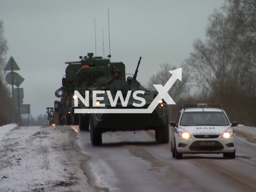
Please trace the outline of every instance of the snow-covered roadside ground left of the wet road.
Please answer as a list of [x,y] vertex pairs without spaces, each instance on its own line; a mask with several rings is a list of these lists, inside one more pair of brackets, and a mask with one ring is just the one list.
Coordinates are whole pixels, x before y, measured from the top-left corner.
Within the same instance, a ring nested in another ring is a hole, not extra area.
[[70,126],[0,127],[1,192],[94,192]]

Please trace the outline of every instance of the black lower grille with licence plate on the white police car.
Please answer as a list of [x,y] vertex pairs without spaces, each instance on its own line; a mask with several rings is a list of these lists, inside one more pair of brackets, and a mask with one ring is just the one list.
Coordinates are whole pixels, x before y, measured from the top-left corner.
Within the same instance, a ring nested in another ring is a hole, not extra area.
[[[202,145],[204,144],[204,145]],[[209,145],[208,145],[209,144]],[[212,145],[214,144],[214,145]],[[192,151],[220,151],[224,149],[224,146],[218,141],[195,141],[189,149]]]

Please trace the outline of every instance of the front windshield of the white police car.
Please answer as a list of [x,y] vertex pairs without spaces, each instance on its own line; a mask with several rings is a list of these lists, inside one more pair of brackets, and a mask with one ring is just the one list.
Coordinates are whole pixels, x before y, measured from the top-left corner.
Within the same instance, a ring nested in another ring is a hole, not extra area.
[[224,112],[184,112],[180,120],[181,126],[228,126],[230,125]]

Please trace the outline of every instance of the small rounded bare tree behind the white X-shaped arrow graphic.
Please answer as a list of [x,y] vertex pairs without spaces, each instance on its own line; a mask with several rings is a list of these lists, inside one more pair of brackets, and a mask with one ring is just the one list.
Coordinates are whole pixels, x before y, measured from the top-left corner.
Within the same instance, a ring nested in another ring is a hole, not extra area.
[[[150,82],[148,83],[148,87],[150,90],[156,90],[153,84],[161,84],[164,86],[166,82],[170,79],[172,74],[169,71],[177,69],[176,66],[172,66],[171,64],[160,64],[161,70],[158,71],[155,75],[150,77]],[[188,87],[186,86],[187,76],[183,72],[182,68],[182,81],[176,80],[173,87],[175,87],[176,91],[173,94],[172,99],[176,101],[178,98],[186,94],[188,91]]]

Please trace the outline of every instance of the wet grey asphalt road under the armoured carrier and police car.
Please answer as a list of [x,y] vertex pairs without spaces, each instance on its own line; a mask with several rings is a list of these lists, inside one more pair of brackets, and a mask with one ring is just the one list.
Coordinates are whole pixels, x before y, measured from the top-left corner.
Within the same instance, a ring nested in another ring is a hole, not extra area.
[[107,132],[94,147],[90,132],[72,128],[90,156],[84,173],[99,192],[256,192],[256,144],[239,138],[236,159],[185,154],[176,160],[170,142],[158,144],[154,131]]

